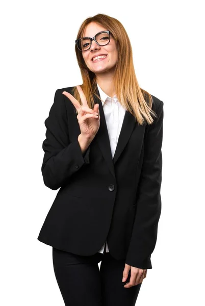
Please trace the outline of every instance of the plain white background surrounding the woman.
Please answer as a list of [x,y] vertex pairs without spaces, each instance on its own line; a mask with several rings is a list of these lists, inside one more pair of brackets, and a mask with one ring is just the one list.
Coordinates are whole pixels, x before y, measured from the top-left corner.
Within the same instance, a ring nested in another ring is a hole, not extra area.
[[58,88],[82,83],[74,41],[97,13],[124,25],[140,87],[164,101],[162,214],[136,304],[204,305],[202,1],[3,1],[0,11],[1,305],[64,305],[52,247],[37,240],[57,194],[41,174],[44,120]]

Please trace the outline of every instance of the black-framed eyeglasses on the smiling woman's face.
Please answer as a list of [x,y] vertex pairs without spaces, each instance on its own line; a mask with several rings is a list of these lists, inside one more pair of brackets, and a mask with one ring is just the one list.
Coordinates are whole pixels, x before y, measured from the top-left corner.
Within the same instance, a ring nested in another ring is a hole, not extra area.
[[87,51],[90,49],[92,41],[94,40],[99,46],[105,46],[110,42],[110,34],[108,31],[101,31],[95,34],[94,37],[83,37],[75,40],[76,46],[80,51]]

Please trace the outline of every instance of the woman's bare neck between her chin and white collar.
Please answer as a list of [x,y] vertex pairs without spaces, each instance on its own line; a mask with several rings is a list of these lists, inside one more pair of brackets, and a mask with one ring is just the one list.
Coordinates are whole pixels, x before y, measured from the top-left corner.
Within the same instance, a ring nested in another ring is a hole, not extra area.
[[99,73],[96,75],[96,82],[99,87],[111,98],[115,95],[113,73]]

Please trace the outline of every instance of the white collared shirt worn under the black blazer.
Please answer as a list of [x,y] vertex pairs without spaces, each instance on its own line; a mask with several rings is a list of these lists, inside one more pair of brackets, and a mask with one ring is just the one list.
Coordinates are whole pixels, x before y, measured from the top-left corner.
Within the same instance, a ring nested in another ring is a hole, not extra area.
[[[102,100],[101,102],[105,114],[108,135],[110,139],[110,148],[113,158],[126,110],[119,103],[116,94],[114,95],[113,98],[111,98],[104,91],[102,91],[102,89],[99,87],[98,84],[97,88],[99,90],[99,95]],[[106,252],[109,252],[107,241],[105,243],[106,243]],[[104,245],[102,245],[102,247],[99,249],[98,252],[103,253],[105,243]]]

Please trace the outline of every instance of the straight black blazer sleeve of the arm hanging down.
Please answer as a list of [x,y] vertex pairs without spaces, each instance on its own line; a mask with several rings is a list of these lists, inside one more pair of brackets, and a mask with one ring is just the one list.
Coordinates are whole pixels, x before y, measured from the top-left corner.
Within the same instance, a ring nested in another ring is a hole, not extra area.
[[157,242],[161,215],[163,106],[161,101],[157,118],[148,125],[144,157],[137,189],[137,208],[131,241],[126,254],[127,265],[151,269],[151,253]]

